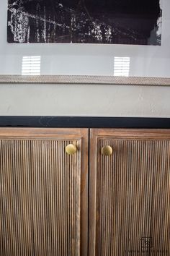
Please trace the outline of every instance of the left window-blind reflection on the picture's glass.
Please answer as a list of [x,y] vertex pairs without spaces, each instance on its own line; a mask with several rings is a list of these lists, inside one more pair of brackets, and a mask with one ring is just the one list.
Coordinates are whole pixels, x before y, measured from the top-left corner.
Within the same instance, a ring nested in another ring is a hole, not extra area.
[[23,56],[22,75],[40,75],[41,56]]

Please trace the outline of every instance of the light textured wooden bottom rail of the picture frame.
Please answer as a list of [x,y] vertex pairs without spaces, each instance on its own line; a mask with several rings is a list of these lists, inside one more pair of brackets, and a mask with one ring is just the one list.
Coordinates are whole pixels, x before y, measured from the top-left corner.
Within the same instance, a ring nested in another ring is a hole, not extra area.
[[169,86],[169,77],[113,77],[90,75],[11,75],[0,74],[0,84],[80,84]]

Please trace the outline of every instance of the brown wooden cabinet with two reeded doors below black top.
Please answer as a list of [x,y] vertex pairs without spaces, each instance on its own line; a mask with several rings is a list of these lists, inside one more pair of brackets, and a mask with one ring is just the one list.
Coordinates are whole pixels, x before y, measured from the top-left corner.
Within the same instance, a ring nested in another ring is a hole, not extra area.
[[169,200],[170,130],[0,129],[0,256],[169,256]]

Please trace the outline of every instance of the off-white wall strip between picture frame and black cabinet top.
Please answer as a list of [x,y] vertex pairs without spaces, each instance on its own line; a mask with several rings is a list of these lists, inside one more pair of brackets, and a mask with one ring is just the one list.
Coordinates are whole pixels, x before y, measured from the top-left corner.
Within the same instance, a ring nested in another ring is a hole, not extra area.
[[0,116],[170,117],[170,87],[0,85]]

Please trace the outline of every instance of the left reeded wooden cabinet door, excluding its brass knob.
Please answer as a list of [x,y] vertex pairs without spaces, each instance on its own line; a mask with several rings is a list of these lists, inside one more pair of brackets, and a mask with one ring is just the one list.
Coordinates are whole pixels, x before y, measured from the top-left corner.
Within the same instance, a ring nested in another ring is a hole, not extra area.
[[88,129],[0,129],[1,256],[87,255],[87,150]]

